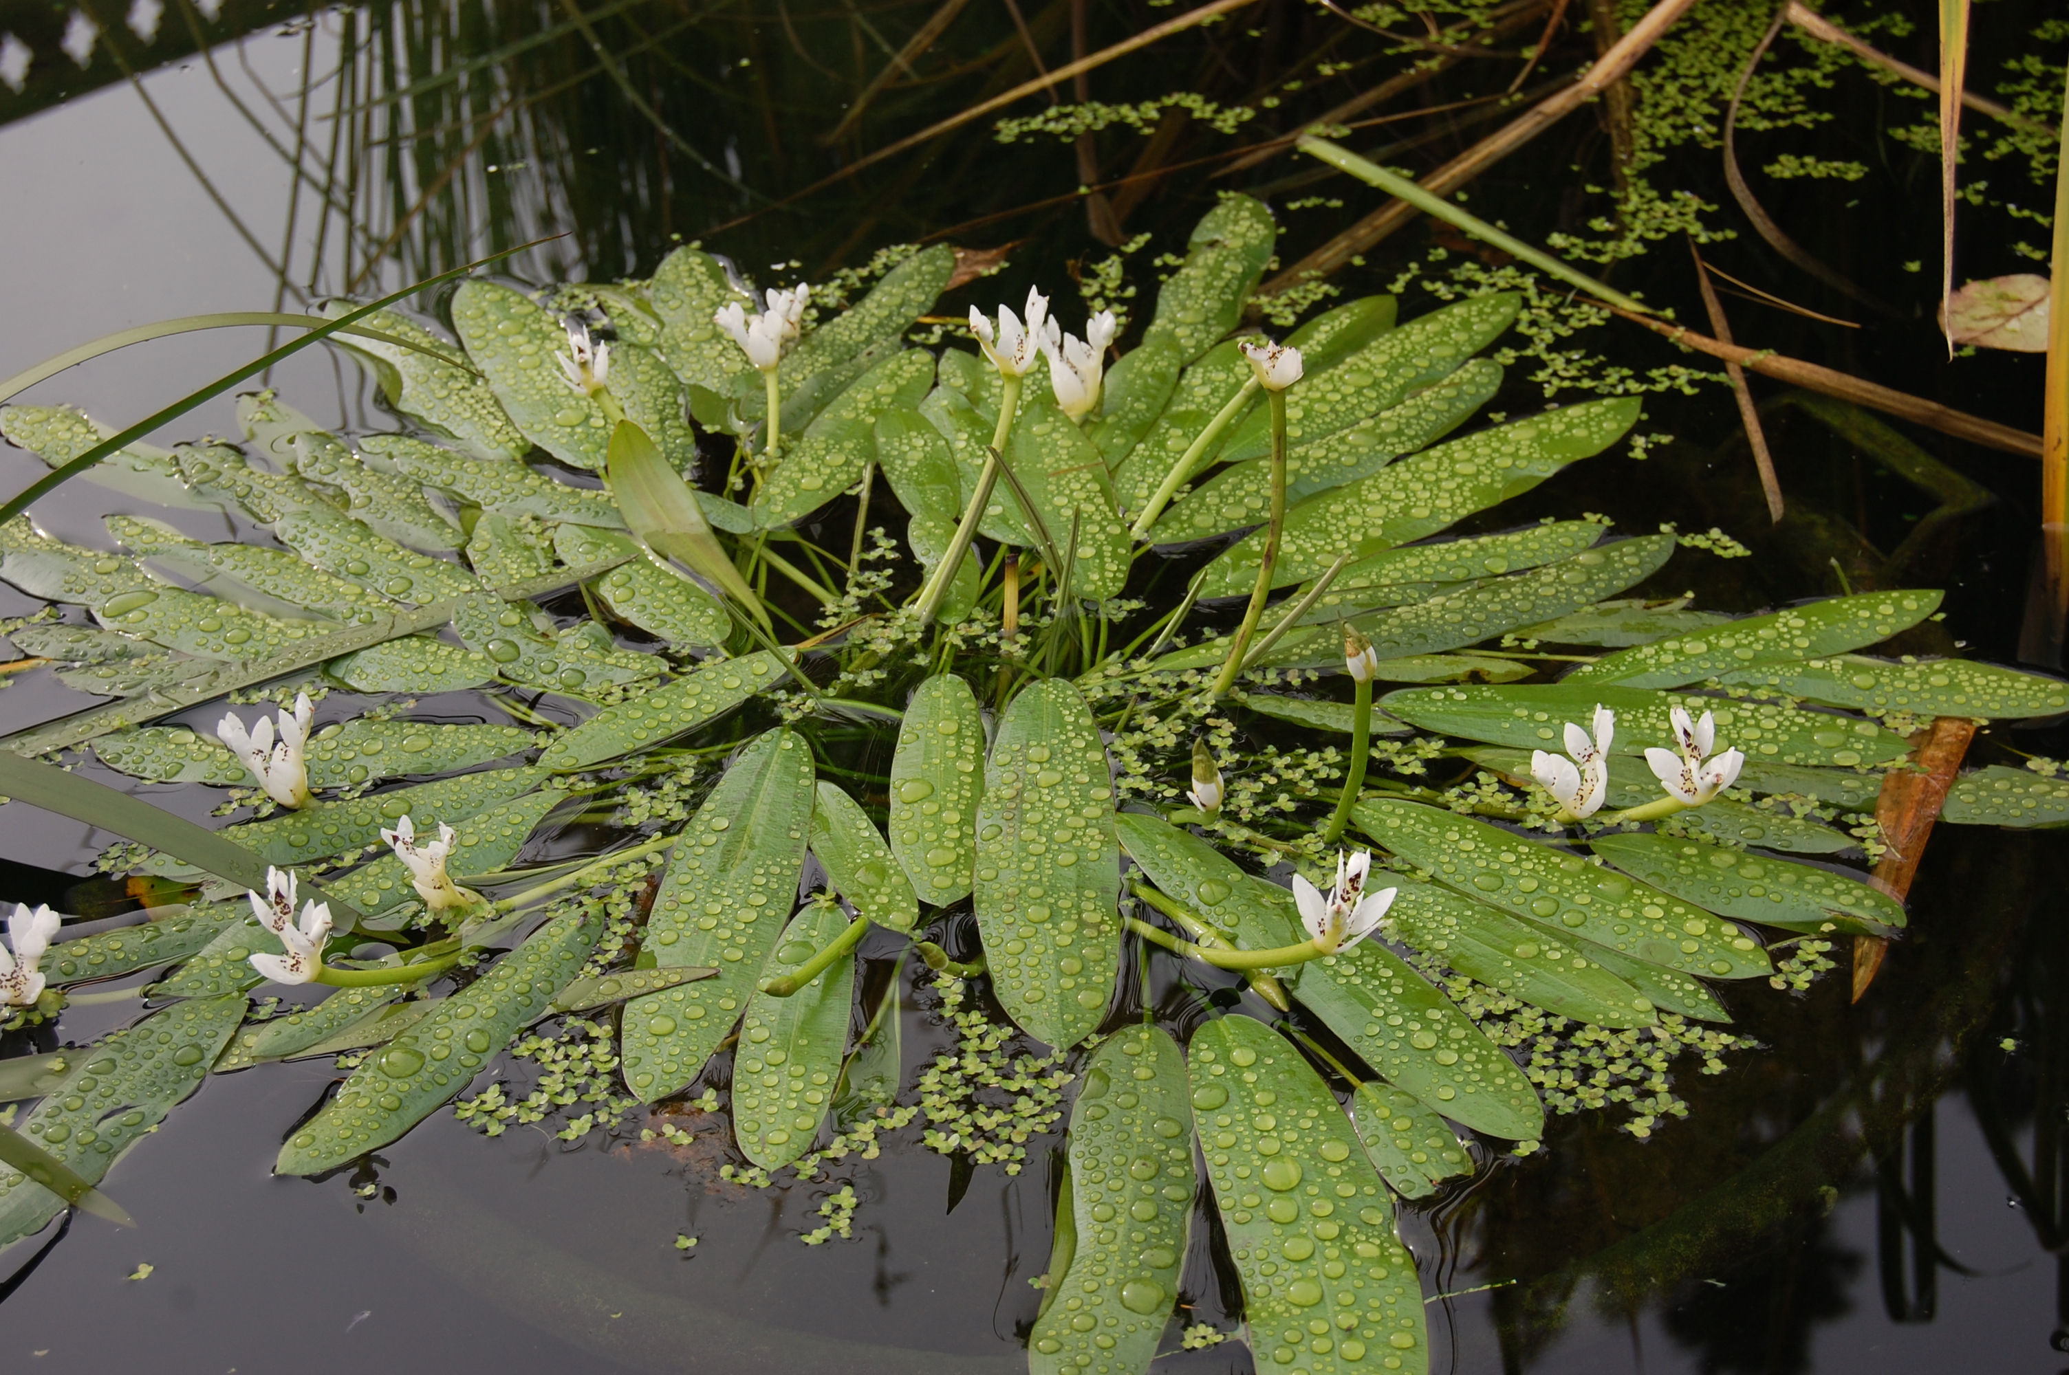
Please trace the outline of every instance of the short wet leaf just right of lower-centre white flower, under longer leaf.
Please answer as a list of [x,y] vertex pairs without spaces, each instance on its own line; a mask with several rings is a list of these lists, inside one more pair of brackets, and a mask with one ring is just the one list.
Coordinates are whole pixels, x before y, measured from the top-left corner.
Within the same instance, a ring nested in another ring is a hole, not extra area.
[[1575,1021],[1610,1028],[1659,1021],[1651,999],[1603,970],[1587,945],[1548,937],[1428,883],[1386,883],[1399,889],[1386,910],[1388,928],[1459,974]]

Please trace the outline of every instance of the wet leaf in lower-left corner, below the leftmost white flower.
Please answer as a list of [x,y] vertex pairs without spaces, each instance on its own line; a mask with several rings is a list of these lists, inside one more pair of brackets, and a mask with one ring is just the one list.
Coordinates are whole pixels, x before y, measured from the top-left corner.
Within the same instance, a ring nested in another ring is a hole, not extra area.
[[[72,1055],[74,1069],[19,1131],[87,1183],[151,1133],[201,1086],[209,1063],[244,1017],[244,999],[180,1003]],[[0,1168],[0,1245],[43,1226],[64,1208],[12,1168]]]

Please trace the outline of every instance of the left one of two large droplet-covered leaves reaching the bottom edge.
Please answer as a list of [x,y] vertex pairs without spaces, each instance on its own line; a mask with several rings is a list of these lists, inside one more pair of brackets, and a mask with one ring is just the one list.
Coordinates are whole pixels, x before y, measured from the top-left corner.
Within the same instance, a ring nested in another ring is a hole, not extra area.
[[1123,1028],[1092,1052],[1059,1203],[1076,1245],[1063,1274],[1049,1272],[1053,1301],[1028,1334],[1030,1375],[1140,1373],[1157,1356],[1198,1191],[1190,1096],[1186,1059],[1159,1028]]

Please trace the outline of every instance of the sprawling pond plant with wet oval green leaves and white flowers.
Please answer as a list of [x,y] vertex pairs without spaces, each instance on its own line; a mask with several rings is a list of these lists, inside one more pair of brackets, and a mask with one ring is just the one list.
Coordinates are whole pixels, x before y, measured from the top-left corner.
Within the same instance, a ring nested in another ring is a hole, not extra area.
[[[1548,1112],[1624,1102],[1649,1135],[1686,1110],[1674,1073],[1726,1073],[1738,1044],[1697,1023],[1804,986],[1810,937],[1906,924],[1850,860],[1881,854],[1872,813],[1926,717],[2059,715],[2069,689],[1893,658],[1932,589],[1730,616],[1674,595],[1715,540],[1508,515],[1566,465],[1620,463],[1639,401],[1483,418],[1517,378],[1477,354],[1506,358],[1527,308],[1486,292],[1409,318],[1347,300],[1291,335],[1272,643],[1217,693],[1270,540],[1272,405],[1231,331],[1275,240],[1262,203],[1225,196],[1134,347],[1090,389],[1074,341],[1030,354],[1010,416],[991,362],[939,343],[946,246],[894,254],[852,306],[813,298],[815,320],[697,248],[610,287],[474,279],[457,341],[379,316],[445,360],[350,343],[403,428],[331,434],[252,393],[242,445],[93,473],[244,538],[116,515],[116,552],[8,523],[0,579],[48,604],[12,631],[46,662],[21,668],[114,699],[10,746],[215,790],[223,839],[360,912],[306,955],[339,986],[283,1011],[252,957],[279,968],[300,928],[213,885],[56,943],[8,1028],[116,976],[153,972],[170,1005],[0,1073],[37,1100],[25,1133],[99,1179],[211,1067],[348,1055],[337,1096],[279,1123],[277,1168],[325,1174],[509,1052],[554,1077],[463,1121],[646,1139],[666,1121],[646,1104],[687,1100],[724,1108],[730,1185],[786,1187],[906,1148],[964,1181],[1018,1172],[1068,1108],[1030,1369],[1144,1371],[1204,1201],[1258,1369],[1428,1371],[1395,1197],[1537,1150]],[[763,368],[728,306],[788,320],[790,347]],[[621,426],[652,442],[612,445]],[[0,432],[56,465],[110,430],[0,407]],[[677,473],[695,500],[668,513],[614,498]],[[1372,709],[1347,629],[1374,682],[1419,686]],[[331,693],[308,740],[215,738],[226,709],[250,728],[302,689]],[[1554,796],[1535,755],[1597,707],[1601,796]],[[1690,740],[1680,711],[1707,717]],[[1661,792],[1645,751],[1705,796]],[[2069,823],[2061,767],[1984,761],[1943,819]],[[203,883],[174,850],[106,868]],[[902,1061],[900,984],[871,976],[888,949],[935,972],[954,1057]],[[1190,1011],[1144,1017],[1173,986]],[[1595,1081],[1562,1069],[1583,1061]],[[850,1236],[857,1205],[830,1187],[803,1239]],[[58,1208],[0,1172],[6,1236]]]

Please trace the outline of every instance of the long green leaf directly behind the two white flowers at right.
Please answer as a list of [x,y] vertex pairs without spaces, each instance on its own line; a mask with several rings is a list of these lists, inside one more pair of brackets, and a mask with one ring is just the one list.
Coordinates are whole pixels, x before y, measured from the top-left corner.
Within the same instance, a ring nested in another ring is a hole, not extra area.
[[[1626,686],[1556,682],[1401,689],[1380,705],[1403,722],[1444,736],[1537,751],[1558,748],[1560,728],[1585,722],[1597,703],[1616,711],[1612,751],[1618,755],[1643,755],[1647,746],[1672,748],[1668,713],[1674,707],[1686,707],[1695,715],[1713,713],[1717,748],[1744,751],[1748,773],[1769,763],[1856,767],[1910,753],[1903,736],[1852,715]],[[1798,782],[1810,780],[1798,775]]]

